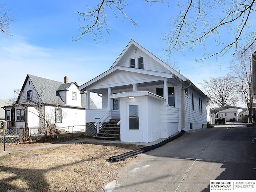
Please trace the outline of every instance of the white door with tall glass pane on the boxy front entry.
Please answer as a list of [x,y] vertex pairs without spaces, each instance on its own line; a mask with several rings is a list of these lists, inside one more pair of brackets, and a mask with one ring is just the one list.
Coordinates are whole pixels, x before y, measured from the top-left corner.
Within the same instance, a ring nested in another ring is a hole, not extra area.
[[140,102],[127,103],[127,141],[143,142]]

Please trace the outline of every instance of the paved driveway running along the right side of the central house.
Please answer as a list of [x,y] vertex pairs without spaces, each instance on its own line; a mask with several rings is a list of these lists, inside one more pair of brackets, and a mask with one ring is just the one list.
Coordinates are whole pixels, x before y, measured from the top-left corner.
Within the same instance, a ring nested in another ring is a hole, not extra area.
[[111,190],[204,192],[210,191],[210,180],[256,180],[256,144],[252,138],[256,138],[255,128],[241,124],[185,132],[160,148],[140,154],[119,172]]

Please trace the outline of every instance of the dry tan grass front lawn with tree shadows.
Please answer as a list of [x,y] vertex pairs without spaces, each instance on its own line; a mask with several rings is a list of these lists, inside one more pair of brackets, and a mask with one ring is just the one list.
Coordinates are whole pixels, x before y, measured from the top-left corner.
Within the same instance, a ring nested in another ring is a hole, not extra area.
[[108,158],[142,146],[134,144],[68,144],[0,157],[0,189],[4,192],[90,192],[115,180],[133,158]]

